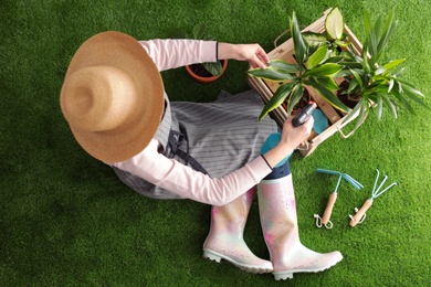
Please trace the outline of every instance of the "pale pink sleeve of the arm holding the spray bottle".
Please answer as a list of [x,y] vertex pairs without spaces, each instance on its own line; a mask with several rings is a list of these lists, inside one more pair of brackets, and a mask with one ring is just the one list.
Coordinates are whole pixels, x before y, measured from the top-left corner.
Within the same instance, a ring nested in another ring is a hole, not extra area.
[[271,168],[262,157],[222,178],[210,178],[181,162],[168,159],[151,142],[137,156],[113,166],[172,193],[198,202],[224,205],[257,184]]

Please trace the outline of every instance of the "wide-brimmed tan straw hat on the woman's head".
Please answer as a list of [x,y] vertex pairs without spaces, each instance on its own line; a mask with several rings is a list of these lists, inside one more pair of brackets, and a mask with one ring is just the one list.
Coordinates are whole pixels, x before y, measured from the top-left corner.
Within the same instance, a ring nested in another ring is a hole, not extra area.
[[127,160],[151,140],[164,113],[164,84],[132,36],[103,32],[73,56],[60,105],[77,142],[107,163]]

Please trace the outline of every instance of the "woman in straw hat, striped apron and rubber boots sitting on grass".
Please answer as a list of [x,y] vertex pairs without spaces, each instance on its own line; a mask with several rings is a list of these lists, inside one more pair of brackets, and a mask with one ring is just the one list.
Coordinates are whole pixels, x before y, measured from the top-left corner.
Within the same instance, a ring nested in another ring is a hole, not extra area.
[[[204,257],[251,273],[273,272],[275,279],[329,268],[343,256],[301,244],[288,162],[278,164],[309,136],[313,118],[297,128],[288,118],[280,144],[260,155],[277,126],[270,118],[256,120],[263,103],[255,92],[223,92],[204,104],[169,102],[159,71],[221,59],[260,67],[269,61],[257,44],[138,42],[104,32],[73,56],[61,108],[78,144],[137,192],[213,205]],[[256,257],[243,241],[256,185],[271,262]]]

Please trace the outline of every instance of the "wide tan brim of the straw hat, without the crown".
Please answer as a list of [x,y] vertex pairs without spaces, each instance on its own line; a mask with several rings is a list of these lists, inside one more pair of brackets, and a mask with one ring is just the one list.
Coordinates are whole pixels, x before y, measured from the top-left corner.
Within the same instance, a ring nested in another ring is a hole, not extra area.
[[85,41],[73,56],[65,81],[80,68],[99,65],[118,67],[132,76],[139,99],[136,108],[141,116],[122,130],[87,131],[69,124],[91,156],[106,163],[119,162],[139,153],[155,136],[164,113],[164,84],[146,50],[120,32],[103,32]]

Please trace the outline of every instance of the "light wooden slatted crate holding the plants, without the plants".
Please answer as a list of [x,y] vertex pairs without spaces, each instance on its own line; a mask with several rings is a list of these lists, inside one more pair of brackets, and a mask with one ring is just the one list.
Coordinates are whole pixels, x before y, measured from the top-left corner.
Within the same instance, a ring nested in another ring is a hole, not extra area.
[[[305,31],[311,31],[316,33],[324,32],[325,18],[329,11],[330,9],[326,10],[323,13],[322,18],[319,18],[311,25],[306,26],[303,30],[303,32]],[[353,44],[355,53],[360,54],[362,51],[362,44],[358,41],[358,39],[355,36],[355,34],[350,31],[350,29],[347,25],[345,25],[345,31],[348,34],[348,39]],[[271,51],[267,55],[270,60],[284,60],[286,62],[295,63],[295,60],[293,59],[293,54],[294,54],[293,40],[291,38],[284,43],[282,43],[280,46]],[[249,76],[248,81],[249,84],[259,92],[259,94],[262,96],[265,103],[270,100],[270,98],[273,96],[273,94],[280,86],[280,83],[266,81],[253,76]],[[336,79],[336,82],[339,84],[340,79],[338,81]],[[311,155],[317,148],[318,145],[320,145],[324,140],[326,140],[337,131],[344,138],[350,137],[353,135],[353,131],[346,135],[345,132],[343,132],[343,128],[346,125],[348,125],[351,120],[357,118],[359,115],[359,111],[357,111],[353,117],[349,118],[349,120],[345,121],[347,117],[346,114],[340,114],[339,111],[336,111],[334,107],[330,106],[328,103],[326,103],[312,87],[308,88],[308,92],[311,93],[311,96],[313,100],[317,104],[318,108],[320,108],[322,111],[328,118],[329,125],[326,128],[326,130],[324,130],[319,135],[313,131],[311,137],[306,140],[306,142],[304,142],[301,147],[298,147],[298,150],[304,157]],[[274,118],[280,125],[283,125],[283,123],[287,118],[287,113],[282,106],[278,106],[277,108],[275,108],[273,111],[270,113],[270,116]]]

